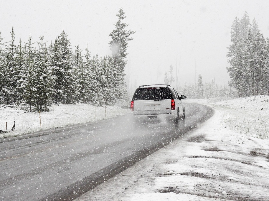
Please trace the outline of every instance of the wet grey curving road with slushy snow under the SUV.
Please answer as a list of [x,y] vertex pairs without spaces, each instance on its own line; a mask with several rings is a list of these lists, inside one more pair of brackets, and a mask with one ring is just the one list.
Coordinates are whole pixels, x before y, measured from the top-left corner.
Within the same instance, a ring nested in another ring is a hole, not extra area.
[[186,129],[120,116],[0,140],[0,200],[72,200],[212,116],[186,104]]

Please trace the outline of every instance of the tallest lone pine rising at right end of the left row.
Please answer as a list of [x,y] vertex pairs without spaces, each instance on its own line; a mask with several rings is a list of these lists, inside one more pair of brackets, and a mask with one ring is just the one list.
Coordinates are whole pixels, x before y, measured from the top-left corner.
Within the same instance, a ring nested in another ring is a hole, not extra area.
[[112,38],[110,41],[110,49],[112,50],[112,57],[114,61],[114,71],[117,72],[115,73],[115,76],[118,75],[118,77],[115,77],[115,80],[117,80],[116,83],[116,89],[117,89],[117,94],[118,98],[121,99],[122,96],[127,96],[125,94],[125,89],[126,89],[126,84],[124,82],[124,67],[127,63],[126,57],[128,55],[127,53],[127,47],[128,47],[128,41],[133,40],[131,38],[131,34],[135,33],[135,31],[127,31],[125,28],[129,26],[128,24],[122,22],[123,19],[126,18],[124,16],[125,12],[123,11],[122,8],[120,8],[117,17],[118,21],[115,22],[115,30],[113,30],[109,36]]

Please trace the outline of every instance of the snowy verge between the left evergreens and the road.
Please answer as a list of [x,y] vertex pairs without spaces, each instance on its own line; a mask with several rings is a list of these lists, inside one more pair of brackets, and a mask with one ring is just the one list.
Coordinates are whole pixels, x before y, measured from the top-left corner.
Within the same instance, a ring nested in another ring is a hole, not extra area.
[[117,106],[95,107],[89,104],[53,105],[49,109],[49,112],[39,114],[39,112],[27,113],[14,107],[4,108],[0,105],[0,130],[11,131],[15,121],[15,131],[0,133],[0,138],[98,121],[130,112],[130,109]]

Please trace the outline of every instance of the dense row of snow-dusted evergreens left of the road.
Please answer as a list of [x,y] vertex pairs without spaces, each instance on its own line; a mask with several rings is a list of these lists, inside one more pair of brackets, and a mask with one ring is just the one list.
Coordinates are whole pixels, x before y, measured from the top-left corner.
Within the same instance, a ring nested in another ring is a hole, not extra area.
[[96,106],[128,104],[124,67],[127,44],[134,31],[126,31],[122,22],[125,12],[120,9],[115,30],[109,36],[112,55],[90,55],[79,45],[72,52],[70,39],[63,30],[54,43],[19,40],[1,43],[0,32],[0,104],[24,105],[28,111],[48,111],[52,103],[91,103]]

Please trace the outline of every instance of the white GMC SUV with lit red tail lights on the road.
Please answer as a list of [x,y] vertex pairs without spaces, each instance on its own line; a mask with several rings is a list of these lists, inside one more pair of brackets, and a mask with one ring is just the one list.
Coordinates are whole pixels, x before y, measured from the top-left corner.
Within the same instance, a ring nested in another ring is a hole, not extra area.
[[142,85],[133,94],[131,111],[137,120],[152,121],[168,119],[178,126],[185,124],[185,107],[176,89],[170,85]]

